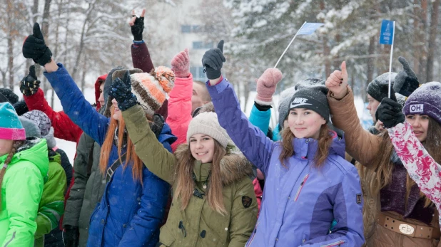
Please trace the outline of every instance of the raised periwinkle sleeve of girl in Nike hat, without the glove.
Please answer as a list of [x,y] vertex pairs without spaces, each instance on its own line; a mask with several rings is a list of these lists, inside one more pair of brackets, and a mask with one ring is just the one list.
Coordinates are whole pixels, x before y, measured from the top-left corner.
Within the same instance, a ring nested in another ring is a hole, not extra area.
[[268,174],[271,153],[274,142],[266,134],[248,121],[245,114],[240,110],[237,96],[233,87],[225,78],[217,85],[209,85],[208,92],[211,95],[220,126],[227,130],[234,144],[243,152],[260,171]]

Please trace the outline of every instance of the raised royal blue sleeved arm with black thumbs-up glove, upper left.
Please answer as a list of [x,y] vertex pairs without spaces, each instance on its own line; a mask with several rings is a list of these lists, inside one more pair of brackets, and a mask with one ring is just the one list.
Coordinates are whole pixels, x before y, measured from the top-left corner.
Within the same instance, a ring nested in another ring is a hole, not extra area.
[[39,23],[34,24],[33,34],[24,41],[23,55],[25,58],[32,58],[36,63],[44,66],[46,69],[44,75],[61,100],[64,112],[76,125],[81,127],[81,130],[102,144],[106,136],[108,119],[93,109],[66,68],[61,63],[55,63],[52,59],[51,50],[44,43]]

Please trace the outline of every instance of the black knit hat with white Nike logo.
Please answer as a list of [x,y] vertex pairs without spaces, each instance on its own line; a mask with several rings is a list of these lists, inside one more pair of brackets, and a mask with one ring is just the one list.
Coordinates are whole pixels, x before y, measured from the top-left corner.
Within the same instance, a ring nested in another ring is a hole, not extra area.
[[294,108],[313,110],[328,122],[330,110],[326,98],[327,94],[328,88],[322,85],[300,88],[294,93],[290,101],[290,110]]

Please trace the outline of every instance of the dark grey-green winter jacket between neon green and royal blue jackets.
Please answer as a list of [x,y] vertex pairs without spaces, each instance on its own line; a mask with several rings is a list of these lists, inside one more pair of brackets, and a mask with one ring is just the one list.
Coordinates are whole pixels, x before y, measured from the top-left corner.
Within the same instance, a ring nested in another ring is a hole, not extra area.
[[98,167],[100,154],[99,144],[83,133],[76,147],[75,182],[66,201],[63,219],[63,226],[78,226],[80,247],[86,246],[91,214],[106,189],[106,177]]

